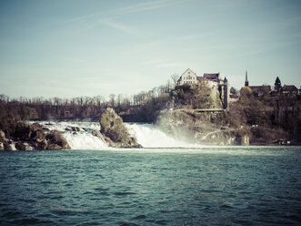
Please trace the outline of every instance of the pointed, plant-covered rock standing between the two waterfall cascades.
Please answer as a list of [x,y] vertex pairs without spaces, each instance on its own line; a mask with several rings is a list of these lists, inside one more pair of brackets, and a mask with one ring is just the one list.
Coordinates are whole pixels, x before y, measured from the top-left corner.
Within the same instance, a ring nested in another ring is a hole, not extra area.
[[[141,148],[136,139],[130,136],[122,118],[115,113],[113,108],[106,108],[102,112],[99,122],[103,140],[109,147]],[[97,133],[96,136],[99,136],[99,134]]]

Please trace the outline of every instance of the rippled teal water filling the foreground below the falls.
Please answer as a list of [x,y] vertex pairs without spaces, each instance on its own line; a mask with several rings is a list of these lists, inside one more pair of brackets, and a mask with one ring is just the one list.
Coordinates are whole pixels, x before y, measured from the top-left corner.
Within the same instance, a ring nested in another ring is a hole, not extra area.
[[2,225],[298,225],[301,149],[0,152]]

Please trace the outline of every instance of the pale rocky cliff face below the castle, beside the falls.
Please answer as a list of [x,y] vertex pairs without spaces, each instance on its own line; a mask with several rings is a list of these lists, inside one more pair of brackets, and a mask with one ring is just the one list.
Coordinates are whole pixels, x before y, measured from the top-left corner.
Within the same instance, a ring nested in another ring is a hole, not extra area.
[[247,129],[224,126],[224,112],[196,113],[194,110],[162,111],[156,125],[170,136],[204,145],[248,145]]

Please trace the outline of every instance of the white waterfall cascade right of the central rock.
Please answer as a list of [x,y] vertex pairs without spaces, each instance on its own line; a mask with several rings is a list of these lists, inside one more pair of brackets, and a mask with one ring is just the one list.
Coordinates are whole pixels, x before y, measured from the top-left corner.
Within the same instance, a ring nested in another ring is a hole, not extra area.
[[130,124],[125,123],[130,134],[135,136],[138,143],[144,148],[187,148],[196,147],[194,144],[186,143],[169,137],[160,128],[153,124]]

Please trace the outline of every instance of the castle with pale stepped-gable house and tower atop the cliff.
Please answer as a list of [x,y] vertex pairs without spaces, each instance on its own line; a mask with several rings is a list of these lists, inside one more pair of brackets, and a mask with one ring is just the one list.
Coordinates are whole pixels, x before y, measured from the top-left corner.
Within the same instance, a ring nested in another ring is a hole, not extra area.
[[196,73],[193,72],[190,68],[182,74],[181,77],[177,80],[177,86],[183,86],[185,84],[194,85],[197,84],[199,80],[206,81],[208,87],[217,87],[219,91],[219,97],[223,103],[224,109],[228,107],[229,103],[229,85],[226,77],[222,79],[219,73],[208,74],[205,73],[203,77],[196,76]]

